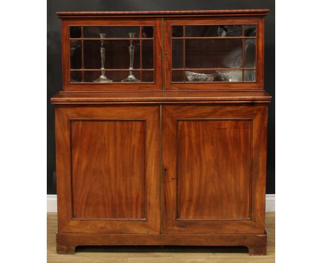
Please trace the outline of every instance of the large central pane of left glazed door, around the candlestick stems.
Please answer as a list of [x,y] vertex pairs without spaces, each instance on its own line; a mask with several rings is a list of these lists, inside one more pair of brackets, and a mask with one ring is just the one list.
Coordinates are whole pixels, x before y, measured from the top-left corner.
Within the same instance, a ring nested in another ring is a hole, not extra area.
[[[105,69],[127,69],[129,68],[129,40],[105,40],[103,48],[105,48]],[[132,41],[134,47],[133,68],[140,68],[140,41]],[[85,69],[100,69],[99,40],[84,41],[84,67]]]

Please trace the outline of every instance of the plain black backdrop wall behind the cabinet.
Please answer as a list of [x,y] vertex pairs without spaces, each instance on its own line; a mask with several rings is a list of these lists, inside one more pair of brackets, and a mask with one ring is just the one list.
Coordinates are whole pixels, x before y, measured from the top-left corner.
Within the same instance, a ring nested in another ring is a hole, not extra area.
[[47,1],[47,193],[56,193],[54,106],[50,97],[62,90],[61,21],[57,11],[217,10],[269,8],[265,19],[265,90],[268,110],[266,193],[275,193],[275,1],[272,0],[52,0]]

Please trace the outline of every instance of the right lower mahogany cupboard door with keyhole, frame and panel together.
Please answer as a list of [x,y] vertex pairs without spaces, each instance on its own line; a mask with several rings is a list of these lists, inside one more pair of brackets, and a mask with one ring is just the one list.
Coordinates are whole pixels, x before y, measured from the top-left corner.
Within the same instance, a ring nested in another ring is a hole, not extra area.
[[266,123],[266,106],[162,106],[162,233],[265,233]]

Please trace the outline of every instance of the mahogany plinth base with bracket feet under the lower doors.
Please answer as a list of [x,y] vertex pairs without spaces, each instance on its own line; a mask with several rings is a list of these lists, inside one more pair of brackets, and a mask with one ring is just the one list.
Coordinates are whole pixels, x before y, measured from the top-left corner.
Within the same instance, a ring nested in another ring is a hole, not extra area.
[[247,246],[250,255],[266,255],[267,235],[141,235],[107,233],[56,233],[58,254],[74,254],[76,246]]

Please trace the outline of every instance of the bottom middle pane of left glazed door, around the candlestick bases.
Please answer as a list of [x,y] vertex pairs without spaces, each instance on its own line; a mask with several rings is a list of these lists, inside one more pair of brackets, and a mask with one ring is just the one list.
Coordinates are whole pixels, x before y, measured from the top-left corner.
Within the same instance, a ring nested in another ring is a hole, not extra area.
[[[91,70],[84,72],[84,81],[85,82],[96,82],[96,80],[100,77],[102,72],[100,70]],[[140,79],[140,70],[133,70],[132,74],[137,78]],[[109,78],[113,82],[122,82],[127,76],[129,76],[129,71],[127,70],[108,70],[104,72],[104,75]]]

